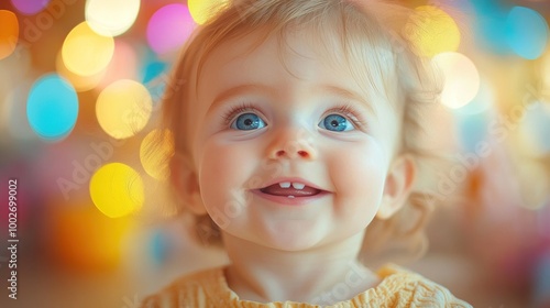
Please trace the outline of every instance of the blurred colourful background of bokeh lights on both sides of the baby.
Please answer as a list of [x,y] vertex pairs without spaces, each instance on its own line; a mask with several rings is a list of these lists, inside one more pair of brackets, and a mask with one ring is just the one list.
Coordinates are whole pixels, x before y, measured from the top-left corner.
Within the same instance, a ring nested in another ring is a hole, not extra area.
[[[133,308],[227,262],[185,237],[156,129],[219,1],[0,0],[1,307]],[[406,266],[474,307],[550,307],[550,2],[400,2],[446,77],[432,120],[453,160],[430,186],[430,249]]]

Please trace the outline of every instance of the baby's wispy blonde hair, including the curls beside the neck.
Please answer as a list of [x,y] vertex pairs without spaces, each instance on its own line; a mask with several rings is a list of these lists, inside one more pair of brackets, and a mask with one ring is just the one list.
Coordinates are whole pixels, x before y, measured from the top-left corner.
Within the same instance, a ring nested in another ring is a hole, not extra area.
[[[373,0],[235,0],[219,8],[210,20],[201,25],[185,46],[172,84],[163,100],[164,123],[174,132],[176,151],[191,161],[193,151],[184,142],[185,128],[177,119],[188,114],[189,91],[197,87],[201,68],[208,56],[222,43],[238,40],[251,33],[264,34],[262,38],[278,35],[284,43],[290,29],[305,28],[316,46],[329,57],[343,56],[359,82],[369,91],[376,91],[403,105],[403,140],[399,151],[415,157],[425,156],[416,139],[421,134],[424,108],[437,102],[440,85],[426,62],[414,53],[403,30],[410,10]],[[336,34],[336,35],[334,35]],[[334,37],[344,52],[332,55]],[[255,46],[260,46],[258,41]],[[395,82],[397,81],[397,82]],[[389,90],[389,86],[398,91]],[[422,193],[411,194],[407,205],[387,220],[375,219],[367,229],[365,253],[382,252],[386,243],[402,243],[419,255],[426,249],[422,233],[431,211]],[[411,222],[411,217],[417,219]],[[217,226],[208,217],[197,217],[196,230]],[[209,237],[209,242],[219,241]],[[394,250],[395,246],[392,246]]]

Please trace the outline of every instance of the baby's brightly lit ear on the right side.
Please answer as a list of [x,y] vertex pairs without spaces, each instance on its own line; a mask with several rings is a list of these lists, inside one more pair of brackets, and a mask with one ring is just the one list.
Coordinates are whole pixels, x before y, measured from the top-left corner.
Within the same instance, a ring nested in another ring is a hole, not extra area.
[[399,155],[389,167],[377,218],[388,219],[405,206],[415,178],[415,160],[408,154]]

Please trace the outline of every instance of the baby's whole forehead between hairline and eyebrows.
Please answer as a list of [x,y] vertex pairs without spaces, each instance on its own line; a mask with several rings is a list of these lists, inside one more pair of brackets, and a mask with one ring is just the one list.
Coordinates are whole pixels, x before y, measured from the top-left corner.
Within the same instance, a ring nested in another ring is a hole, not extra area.
[[198,74],[198,101],[212,90],[257,80],[282,85],[284,80],[276,77],[292,77],[352,88],[366,100],[394,105],[397,82],[389,81],[394,70],[392,51],[358,37],[350,42],[353,40],[330,30],[319,34],[305,28],[268,36],[255,31],[221,43],[206,56]]

